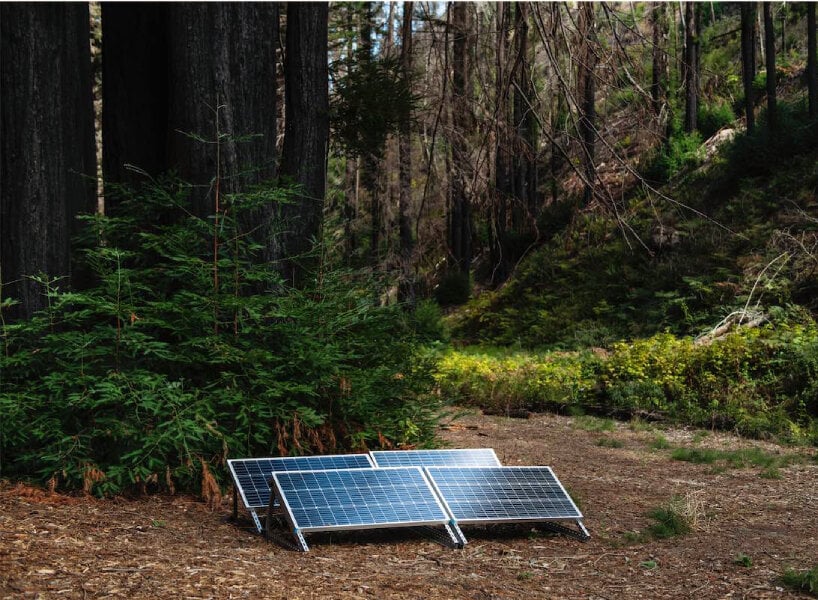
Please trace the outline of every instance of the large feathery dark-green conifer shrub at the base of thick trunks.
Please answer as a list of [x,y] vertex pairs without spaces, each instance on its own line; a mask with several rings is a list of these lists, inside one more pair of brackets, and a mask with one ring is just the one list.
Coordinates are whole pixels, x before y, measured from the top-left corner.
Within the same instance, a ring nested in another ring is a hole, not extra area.
[[[213,225],[181,207],[185,186],[89,218],[93,274],[48,308],[3,326],[4,475],[98,494],[224,481],[230,457],[428,444],[434,356],[376,282],[322,265],[287,287],[241,234],[242,212],[284,199],[226,200]],[[218,284],[214,271],[221,274]]]

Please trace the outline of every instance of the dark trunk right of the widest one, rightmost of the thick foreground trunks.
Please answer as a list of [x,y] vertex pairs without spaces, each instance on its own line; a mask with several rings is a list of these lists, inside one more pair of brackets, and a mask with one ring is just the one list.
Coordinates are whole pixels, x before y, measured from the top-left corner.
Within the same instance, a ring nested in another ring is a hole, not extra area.
[[329,140],[327,18],[325,3],[287,4],[281,176],[298,189],[294,202],[280,209],[284,232],[279,256],[286,259],[282,274],[295,285],[311,270],[314,261],[306,255],[321,235]]

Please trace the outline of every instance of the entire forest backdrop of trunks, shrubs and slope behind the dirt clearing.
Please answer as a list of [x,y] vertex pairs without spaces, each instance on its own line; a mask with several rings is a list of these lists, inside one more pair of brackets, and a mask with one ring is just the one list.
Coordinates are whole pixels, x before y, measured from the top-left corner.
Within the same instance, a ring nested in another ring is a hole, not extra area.
[[818,441],[815,4],[0,9],[2,474],[218,494],[451,402]]

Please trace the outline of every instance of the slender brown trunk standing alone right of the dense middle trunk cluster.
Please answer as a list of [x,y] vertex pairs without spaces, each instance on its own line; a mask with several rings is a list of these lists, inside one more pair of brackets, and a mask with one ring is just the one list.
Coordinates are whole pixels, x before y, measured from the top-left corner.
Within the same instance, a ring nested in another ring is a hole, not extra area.
[[596,144],[596,33],[594,32],[594,4],[584,2],[580,6],[579,34],[584,40],[580,63],[577,69],[577,84],[581,99],[579,123],[580,142],[582,143],[582,164],[585,186],[583,203],[588,205],[594,197],[596,180],[595,144]]

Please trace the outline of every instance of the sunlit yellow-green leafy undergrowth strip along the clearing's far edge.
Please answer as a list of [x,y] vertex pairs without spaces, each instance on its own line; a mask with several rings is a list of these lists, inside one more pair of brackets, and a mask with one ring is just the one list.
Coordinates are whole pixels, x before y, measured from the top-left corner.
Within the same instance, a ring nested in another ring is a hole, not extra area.
[[444,398],[519,409],[641,416],[818,444],[818,327],[768,324],[708,344],[658,334],[609,352],[449,350]]

